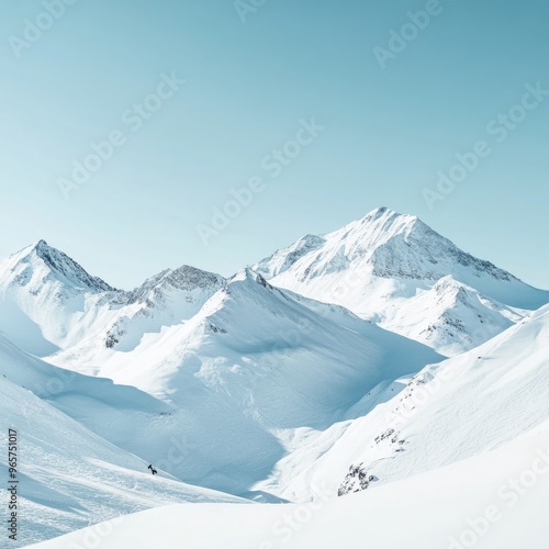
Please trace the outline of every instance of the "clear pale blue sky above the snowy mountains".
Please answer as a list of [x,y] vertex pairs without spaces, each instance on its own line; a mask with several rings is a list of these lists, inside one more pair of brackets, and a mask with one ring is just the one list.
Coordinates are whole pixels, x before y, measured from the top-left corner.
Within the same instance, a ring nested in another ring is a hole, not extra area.
[[[0,256],[44,238],[128,289],[182,264],[231,274],[388,205],[549,288],[549,97],[486,133],[525,85],[549,89],[549,4],[441,0],[382,69],[373,48],[426,3],[267,0],[243,23],[233,0],[77,0],[36,38],[44,4],[2,2]],[[127,110],[172,71],[186,83],[137,128]],[[262,159],[312,117],[325,130],[271,177]],[[58,179],[116,130],[65,200]],[[429,209],[422,190],[478,141],[491,154]],[[253,177],[266,188],[204,246],[197,226]]]

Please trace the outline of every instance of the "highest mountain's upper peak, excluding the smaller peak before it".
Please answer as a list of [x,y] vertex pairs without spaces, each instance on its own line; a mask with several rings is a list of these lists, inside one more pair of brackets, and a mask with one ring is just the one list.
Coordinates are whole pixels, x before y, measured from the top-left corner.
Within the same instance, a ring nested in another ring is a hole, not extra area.
[[302,248],[301,242],[278,250],[254,269],[276,285],[365,314],[371,310],[367,295],[379,291],[389,299],[404,288],[430,288],[448,274],[511,306],[536,309],[549,295],[461,250],[416,215],[386,206],[317,237],[311,246]]

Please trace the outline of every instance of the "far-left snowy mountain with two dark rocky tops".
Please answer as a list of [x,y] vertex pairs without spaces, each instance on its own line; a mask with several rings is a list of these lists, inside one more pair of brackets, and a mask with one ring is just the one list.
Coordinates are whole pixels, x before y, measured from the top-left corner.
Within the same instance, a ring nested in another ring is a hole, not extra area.
[[40,240],[0,261],[0,330],[41,357],[99,340],[128,350],[145,333],[190,318],[223,284],[183,266],[115,290]]

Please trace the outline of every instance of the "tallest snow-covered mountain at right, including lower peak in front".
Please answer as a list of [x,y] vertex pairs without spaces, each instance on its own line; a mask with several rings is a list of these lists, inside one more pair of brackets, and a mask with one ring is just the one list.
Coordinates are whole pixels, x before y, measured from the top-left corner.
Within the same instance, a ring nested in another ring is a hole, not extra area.
[[386,208],[327,235],[307,235],[253,268],[274,285],[340,304],[446,355],[549,303],[549,292]]

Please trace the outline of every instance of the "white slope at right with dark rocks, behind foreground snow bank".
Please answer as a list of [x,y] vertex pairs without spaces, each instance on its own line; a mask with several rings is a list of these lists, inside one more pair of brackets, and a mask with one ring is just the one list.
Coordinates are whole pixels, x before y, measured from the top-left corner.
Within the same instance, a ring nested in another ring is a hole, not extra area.
[[[400,380],[392,397],[386,389],[367,395],[361,417],[311,436],[280,463],[281,478],[260,488],[285,486],[280,495],[288,496],[304,483],[335,483],[336,477],[343,482],[359,463],[374,484],[383,484],[518,438],[549,419],[548,338],[545,306],[491,341]],[[306,479],[290,478],[291,463],[303,459],[310,462]]]

